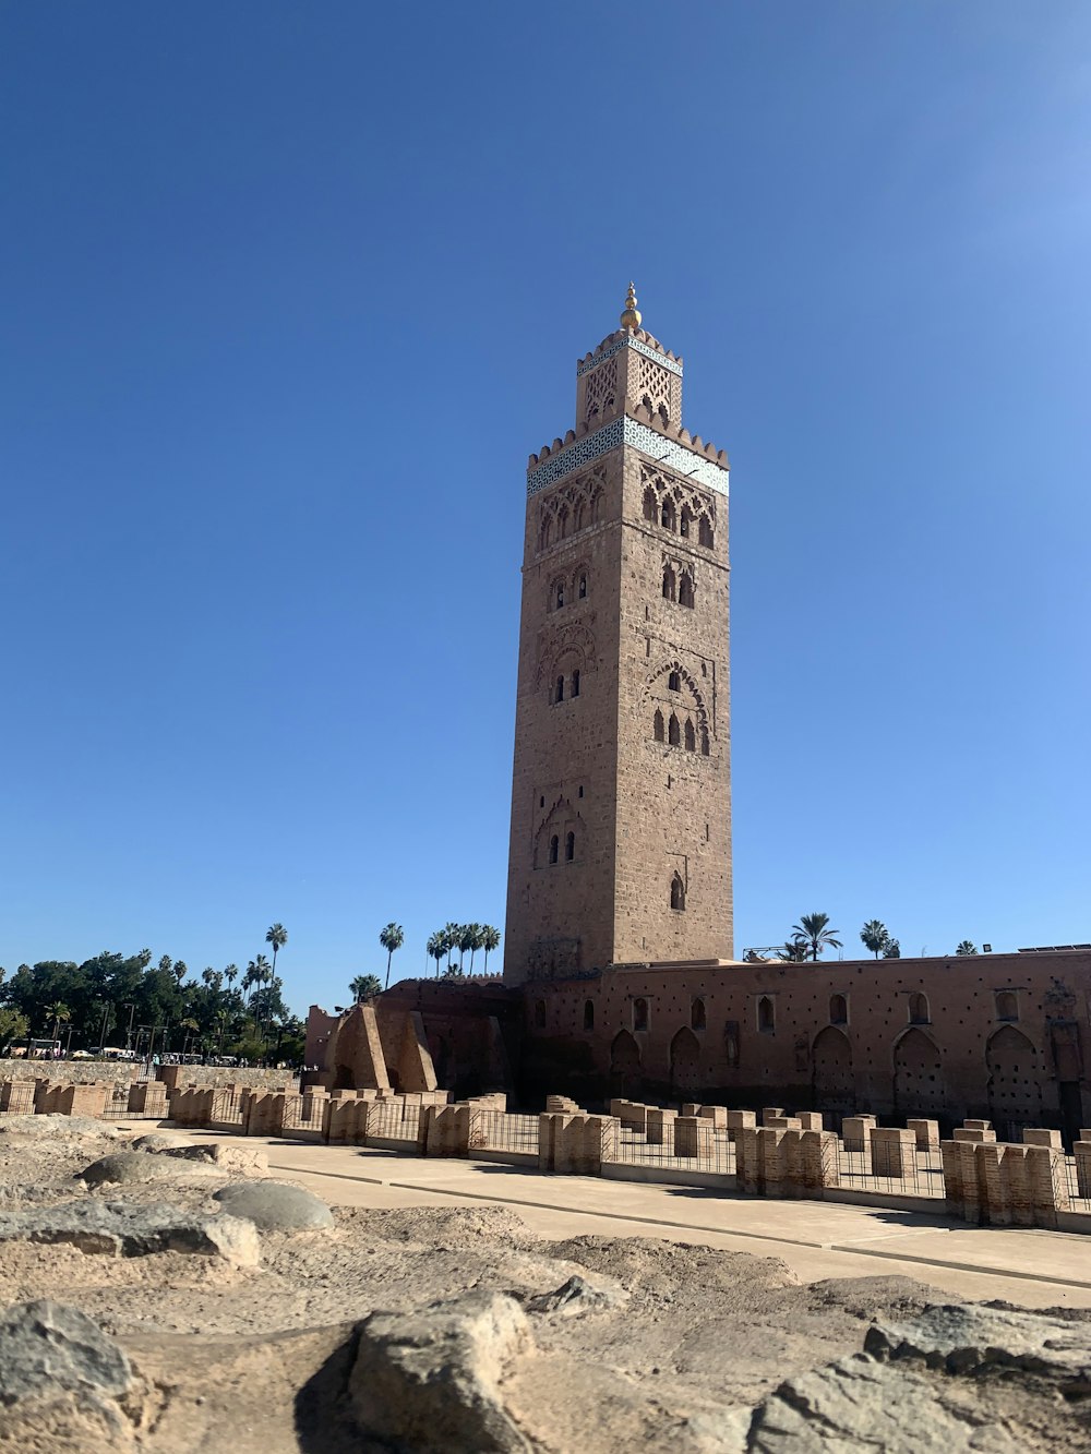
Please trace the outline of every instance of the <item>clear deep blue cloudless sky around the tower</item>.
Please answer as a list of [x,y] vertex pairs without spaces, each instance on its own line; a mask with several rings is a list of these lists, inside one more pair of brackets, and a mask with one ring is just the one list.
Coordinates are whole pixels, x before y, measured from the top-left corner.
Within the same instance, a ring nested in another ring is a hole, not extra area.
[[736,948],[1091,941],[1091,7],[0,7],[0,963],[503,929],[527,455],[732,458]]

